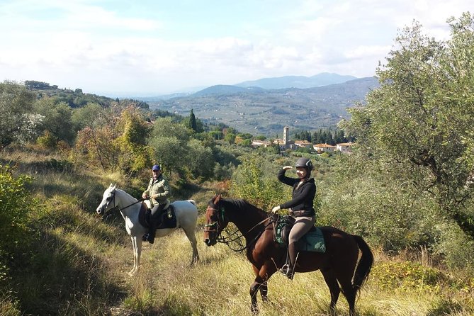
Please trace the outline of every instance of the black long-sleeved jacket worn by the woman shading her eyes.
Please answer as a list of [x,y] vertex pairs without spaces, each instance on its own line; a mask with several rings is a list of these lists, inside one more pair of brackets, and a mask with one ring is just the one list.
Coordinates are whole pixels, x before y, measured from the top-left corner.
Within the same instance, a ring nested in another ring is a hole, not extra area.
[[280,208],[291,208],[293,212],[303,210],[304,212],[297,212],[295,216],[312,216],[315,215],[315,208],[312,207],[312,201],[316,195],[316,184],[315,179],[307,179],[298,188],[300,179],[289,178],[285,176],[284,169],[278,171],[278,180],[288,186],[293,186],[293,192],[291,193],[292,199],[280,205]]

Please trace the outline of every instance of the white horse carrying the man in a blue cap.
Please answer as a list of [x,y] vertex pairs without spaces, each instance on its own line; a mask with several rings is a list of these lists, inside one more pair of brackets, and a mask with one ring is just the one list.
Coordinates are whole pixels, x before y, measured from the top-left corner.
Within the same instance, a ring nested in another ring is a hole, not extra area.
[[[174,206],[174,213],[176,215],[176,227],[162,228],[157,230],[156,237],[164,237],[178,228],[183,228],[186,236],[193,247],[193,257],[191,265],[196,264],[199,260],[198,246],[196,242],[196,222],[198,221],[198,208],[193,200],[188,201],[174,201],[171,203]],[[140,222],[140,208],[142,203],[136,198],[130,196],[119,188],[115,188],[112,184],[103,192],[101,203],[98,205],[96,211],[98,214],[106,212],[111,208],[120,208],[120,213],[125,220],[125,229],[128,235],[132,237],[133,245],[133,269],[128,273],[130,276],[134,275],[140,267],[140,255],[142,253],[142,236],[148,231],[148,228]],[[142,216],[143,218],[143,211]]]

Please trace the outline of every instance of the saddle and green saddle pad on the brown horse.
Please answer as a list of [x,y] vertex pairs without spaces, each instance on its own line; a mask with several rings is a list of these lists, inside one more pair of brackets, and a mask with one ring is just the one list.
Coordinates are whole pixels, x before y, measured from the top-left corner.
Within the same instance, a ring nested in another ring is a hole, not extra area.
[[[273,215],[273,241],[280,247],[288,248],[288,237],[291,227],[295,224],[295,218],[289,215]],[[326,252],[325,237],[320,227],[313,226],[296,244],[300,252]]]

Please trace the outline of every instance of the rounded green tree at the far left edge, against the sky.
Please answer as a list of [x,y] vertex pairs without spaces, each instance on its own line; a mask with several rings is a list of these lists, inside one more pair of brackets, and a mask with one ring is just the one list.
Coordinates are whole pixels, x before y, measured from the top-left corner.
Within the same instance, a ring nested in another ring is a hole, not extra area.
[[35,113],[36,96],[13,81],[0,83],[0,147],[12,142],[24,145],[38,135],[37,126],[44,118]]

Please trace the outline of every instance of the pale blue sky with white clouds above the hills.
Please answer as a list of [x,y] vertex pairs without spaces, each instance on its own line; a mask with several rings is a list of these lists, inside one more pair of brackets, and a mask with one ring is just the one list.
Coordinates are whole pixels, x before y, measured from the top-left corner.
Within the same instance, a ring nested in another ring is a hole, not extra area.
[[375,75],[400,30],[438,40],[473,0],[0,0],[0,81],[111,97]]

